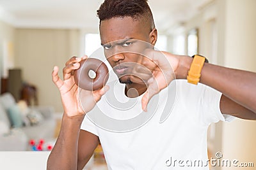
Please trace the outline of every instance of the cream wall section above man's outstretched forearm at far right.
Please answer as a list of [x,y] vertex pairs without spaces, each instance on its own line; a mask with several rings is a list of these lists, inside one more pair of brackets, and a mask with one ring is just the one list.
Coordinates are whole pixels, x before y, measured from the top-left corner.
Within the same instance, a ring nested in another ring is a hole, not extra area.
[[255,0],[227,0],[225,66],[256,71],[255,7]]

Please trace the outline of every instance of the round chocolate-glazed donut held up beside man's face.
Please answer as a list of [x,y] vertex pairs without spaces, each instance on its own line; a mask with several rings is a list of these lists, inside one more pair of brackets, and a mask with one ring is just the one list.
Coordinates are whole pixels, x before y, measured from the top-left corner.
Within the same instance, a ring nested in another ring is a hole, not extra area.
[[[90,70],[96,73],[95,78],[90,78]],[[74,71],[76,85],[84,90],[99,90],[106,85],[108,78],[108,67],[99,59],[88,58],[82,60],[79,69]]]

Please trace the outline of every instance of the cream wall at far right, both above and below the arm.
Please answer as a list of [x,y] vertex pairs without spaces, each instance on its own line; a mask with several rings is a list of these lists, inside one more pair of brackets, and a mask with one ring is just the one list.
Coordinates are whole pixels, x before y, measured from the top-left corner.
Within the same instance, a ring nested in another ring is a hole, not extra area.
[[[225,60],[228,67],[256,72],[256,1],[227,0],[225,10]],[[255,89],[252,89],[255,90]],[[223,124],[223,155],[256,166],[256,122]],[[224,168],[223,169],[228,169]],[[245,168],[236,168],[245,169]],[[248,169],[253,169],[248,168]]]

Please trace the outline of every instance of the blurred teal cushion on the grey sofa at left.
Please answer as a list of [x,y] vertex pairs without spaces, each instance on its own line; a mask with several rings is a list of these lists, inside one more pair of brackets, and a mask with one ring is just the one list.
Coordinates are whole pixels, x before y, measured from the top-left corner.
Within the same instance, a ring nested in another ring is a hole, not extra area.
[[22,115],[17,104],[8,108],[8,116],[11,120],[12,127],[22,127]]

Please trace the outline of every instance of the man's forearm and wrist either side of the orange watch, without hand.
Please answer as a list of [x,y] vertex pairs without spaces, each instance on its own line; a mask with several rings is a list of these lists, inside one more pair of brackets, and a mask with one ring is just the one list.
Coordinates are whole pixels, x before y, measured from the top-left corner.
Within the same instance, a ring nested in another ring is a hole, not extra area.
[[[175,73],[177,78],[186,79],[193,59],[181,57],[180,66]],[[230,69],[205,63],[200,83],[208,85],[256,113],[256,73]]]

